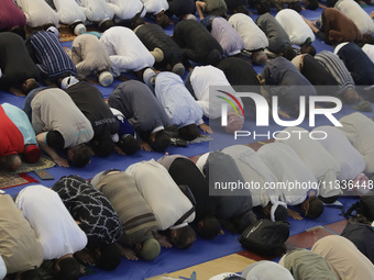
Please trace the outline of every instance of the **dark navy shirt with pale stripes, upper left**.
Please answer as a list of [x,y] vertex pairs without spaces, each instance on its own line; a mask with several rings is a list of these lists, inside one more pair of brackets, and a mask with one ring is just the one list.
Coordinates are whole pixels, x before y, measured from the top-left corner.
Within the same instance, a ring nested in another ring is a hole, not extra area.
[[38,31],[30,37],[42,76],[56,79],[62,75],[76,75],[77,70],[58,38],[51,32]]

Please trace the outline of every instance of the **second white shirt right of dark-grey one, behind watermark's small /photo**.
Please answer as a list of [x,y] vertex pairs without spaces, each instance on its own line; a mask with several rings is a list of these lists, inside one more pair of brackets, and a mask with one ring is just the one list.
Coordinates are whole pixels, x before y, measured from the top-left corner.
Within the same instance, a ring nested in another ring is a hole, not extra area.
[[[297,205],[307,199],[309,190],[318,192],[317,180],[311,170],[302,163],[297,154],[283,143],[271,143],[262,146],[257,154],[272,170],[277,182],[283,182],[279,188],[270,190],[272,202],[278,200],[287,205]],[[309,183],[310,182],[310,183]],[[292,183],[308,183],[307,188],[293,188]],[[284,188],[282,188],[284,187]]]

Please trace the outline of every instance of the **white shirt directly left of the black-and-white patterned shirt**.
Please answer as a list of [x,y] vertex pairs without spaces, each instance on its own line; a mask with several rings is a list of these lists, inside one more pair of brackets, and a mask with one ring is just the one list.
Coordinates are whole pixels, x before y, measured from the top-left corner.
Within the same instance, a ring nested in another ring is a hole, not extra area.
[[15,204],[35,231],[44,259],[61,258],[86,247],[86,234],[55,191],[42,184],[30,186],[19,193]]

